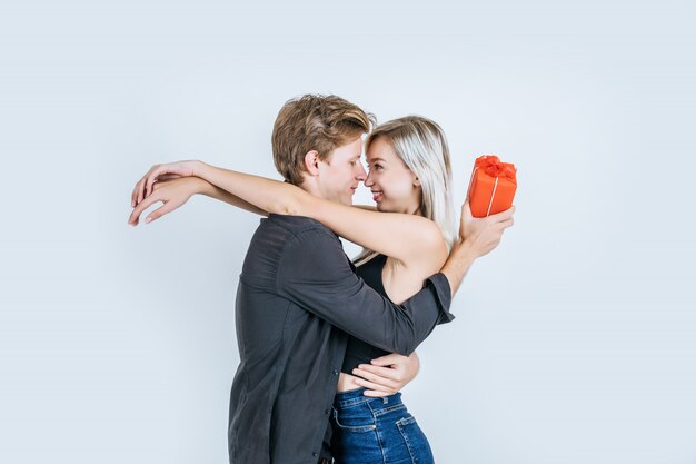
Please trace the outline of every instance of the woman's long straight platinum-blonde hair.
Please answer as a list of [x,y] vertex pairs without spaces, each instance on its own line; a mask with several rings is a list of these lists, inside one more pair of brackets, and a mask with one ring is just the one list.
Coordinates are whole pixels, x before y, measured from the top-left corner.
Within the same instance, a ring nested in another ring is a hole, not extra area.
[[[365,149],[369,149],[370,144],[378,138],[388,141],[420,180],[420,214],[439,226],[447,248],[451,249],[457,237],[457,227],[450,188],[449,148],[445,132],[437,122],[428,118],[406,116],[377,126],[367,138]],[[364,249],[354,261],[359,266],[375,255],[377,253]]]

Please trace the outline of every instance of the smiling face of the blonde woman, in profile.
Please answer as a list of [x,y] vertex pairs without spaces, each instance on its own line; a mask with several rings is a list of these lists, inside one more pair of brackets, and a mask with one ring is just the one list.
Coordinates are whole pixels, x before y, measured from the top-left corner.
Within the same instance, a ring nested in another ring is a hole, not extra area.
[[372,191],[379,211],[419,214],[420,182],[385,137],[370,144],[367,164],[365,186]]

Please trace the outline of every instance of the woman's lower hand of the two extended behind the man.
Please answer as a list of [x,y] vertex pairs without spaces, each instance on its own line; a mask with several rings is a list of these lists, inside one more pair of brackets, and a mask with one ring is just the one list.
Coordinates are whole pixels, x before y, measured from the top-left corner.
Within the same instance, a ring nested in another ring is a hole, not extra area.
[[[160,177],[161,179],[162,177]],[[169,180],[159,180],[152,186],[152,195],[147,196],[139,201],[128,218],[128,224],[137,226],[142,211],[148,209],[152,204],[162,201],[163,205],[150,213],[145,219],[150,223],[168,213],[173,211],[188,201],[191,196],[198,194],[205,180],[198,177],[170,178]]]

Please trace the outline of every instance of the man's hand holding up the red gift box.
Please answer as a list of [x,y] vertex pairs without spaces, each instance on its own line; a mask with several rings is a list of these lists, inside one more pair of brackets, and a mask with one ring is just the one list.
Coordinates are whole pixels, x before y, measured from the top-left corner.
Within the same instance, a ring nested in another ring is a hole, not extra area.
[[471,247],[471,250],[481,257],[493,250],[500,243],[503,231],[513,226],[515,206],[505,211],[487,217],[471,216],[469,199],[461,205],[461,223],[459,225],[459,238]]

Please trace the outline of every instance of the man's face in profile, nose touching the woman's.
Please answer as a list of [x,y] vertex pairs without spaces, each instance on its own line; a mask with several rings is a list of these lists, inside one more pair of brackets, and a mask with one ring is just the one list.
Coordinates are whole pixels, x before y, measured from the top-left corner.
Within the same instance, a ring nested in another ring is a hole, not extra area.
[[367,174],[360,162],[362,155],[362,138],[336,148],[326,161],[319,162],[317,179],[321,198],[352,205],[352,195],[358,185],[365,181]]

